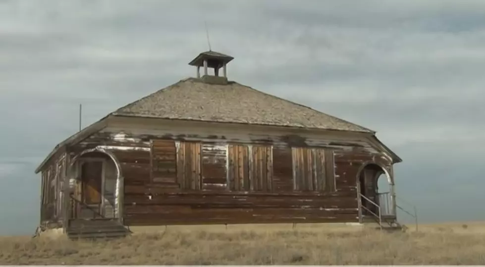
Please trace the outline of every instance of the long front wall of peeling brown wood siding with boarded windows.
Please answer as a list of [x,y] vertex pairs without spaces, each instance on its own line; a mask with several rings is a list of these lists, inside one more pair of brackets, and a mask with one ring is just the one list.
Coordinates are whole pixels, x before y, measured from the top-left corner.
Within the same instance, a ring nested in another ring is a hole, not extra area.
[[115,154],[127,225],[358,221],[357,172],[386,158],[352,138],[150,127],[111,126],[75,148]]

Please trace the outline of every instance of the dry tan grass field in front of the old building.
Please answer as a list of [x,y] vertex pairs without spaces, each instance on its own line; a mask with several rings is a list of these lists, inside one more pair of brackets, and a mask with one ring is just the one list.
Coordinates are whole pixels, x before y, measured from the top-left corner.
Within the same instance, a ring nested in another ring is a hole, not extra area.
[[0,265],[485,265],[485,223],[143,228],[118,240],[0,238]]

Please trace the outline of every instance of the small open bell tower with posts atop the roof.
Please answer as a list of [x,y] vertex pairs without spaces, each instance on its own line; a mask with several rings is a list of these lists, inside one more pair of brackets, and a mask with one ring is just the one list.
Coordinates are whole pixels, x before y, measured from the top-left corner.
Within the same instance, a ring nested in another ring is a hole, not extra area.
[[[197,78],[201,77],[200,68],[204,67],[202,80],[208,83],[227,84],[227,64],[233,60],[231,56],[222,53],[207,51],[200,53],[189,65],[197,67]],[[214,75],[209,75],[209,69],[214,68]],[[219,76],[219,69],[222,68],[222,75]]]

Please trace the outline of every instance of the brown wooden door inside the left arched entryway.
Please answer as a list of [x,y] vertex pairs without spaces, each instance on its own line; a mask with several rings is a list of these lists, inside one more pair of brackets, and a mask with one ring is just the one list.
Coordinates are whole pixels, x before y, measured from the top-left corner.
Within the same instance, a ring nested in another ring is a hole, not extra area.
[[103,162],[86,161],[81,166],[82,201],[88,205],[101,204]]

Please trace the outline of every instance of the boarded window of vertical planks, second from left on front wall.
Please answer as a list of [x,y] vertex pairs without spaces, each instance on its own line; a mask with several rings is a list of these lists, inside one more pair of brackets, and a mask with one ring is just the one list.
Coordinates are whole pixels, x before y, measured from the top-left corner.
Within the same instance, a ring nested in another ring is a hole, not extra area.
[[201,144],[180,142],[177,151],[177,181],[183,189],[201,189]]

